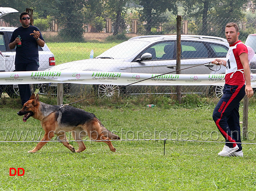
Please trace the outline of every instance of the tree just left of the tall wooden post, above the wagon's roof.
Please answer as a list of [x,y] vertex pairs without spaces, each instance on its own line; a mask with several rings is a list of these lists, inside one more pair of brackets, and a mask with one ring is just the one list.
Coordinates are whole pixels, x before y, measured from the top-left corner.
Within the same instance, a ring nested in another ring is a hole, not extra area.
[[[142,20],[146,21],[146,33],[151,32],[153,26],[157,26],[160,22],[161,15],[166,10],[172,11],[177,14],[176,0],[170,2],[170,0],[139,0],[142,9]],[[156,20],[158,19],[158,20]]]

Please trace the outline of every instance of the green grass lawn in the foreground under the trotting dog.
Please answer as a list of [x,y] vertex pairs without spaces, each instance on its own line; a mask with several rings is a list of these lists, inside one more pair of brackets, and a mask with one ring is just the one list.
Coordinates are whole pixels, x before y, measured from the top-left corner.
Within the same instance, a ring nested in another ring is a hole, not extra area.
[[[61,143],[49,142],[36,154],[27,153],[36,142],[0,142],[0,190],[256,189],[256,146],[253,144],[243,144],[244,158],[225,158],[217,156],[223,143],[167,140],[164,155],[163,140],[128,141],[165,137],[223,141],[212,120],[214,104],[194,108],[174,105],[146,108],[128,102],[120,107],[116,103],[80,107],[96,114],[106,128],[126,140],[112,142],[116,153],[102,142],[85,142],[87,148],[82,153],[71,153]],[[22,122],[22,117],[16,114],[18,110],[1,106],[0,140],[32,140],[35,133],[38,140],[42,131],[40,122],[32,117]],[[242,106],[240,111],[242,113]],[[244,142],[255,142],[255,114],[255,104],[251,104],[248,130],[252,133],[250,140]],[[174,133],[177,130],[178,135]],[[212,136],[211,132],[214,132]],[[75,142],[71,144],[78,148]],[[24,168],[25,174],[9,176],[11,167]]]

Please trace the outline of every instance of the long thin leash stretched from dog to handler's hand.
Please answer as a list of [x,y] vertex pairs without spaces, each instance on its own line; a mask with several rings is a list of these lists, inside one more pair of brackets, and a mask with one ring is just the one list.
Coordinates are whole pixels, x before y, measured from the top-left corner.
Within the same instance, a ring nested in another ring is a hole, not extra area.
[[[178,72],[178,71],[182,71],[182,70],[186,70],[186,69],[190,69],[190,68],[193,68],[193,67],[197,67],[197,66],[201,66],[201,65],[206,65],[208,64],[208,68],[210,69],[210,63],[211,62],[207,62],[207,63],[203,63],[203,64],[198,64],[198,65],[195,65],[195,66],[191,66],[191,67],[187,67],[187,68],[184,68],[184,69],[180,69],[180,70],[175,70],[175,71],[171,71],[171,72],[167,72],[167,73],[164,73],[164,74],[160,74],[160,75],[157,75],[157,76],[154,76],[154,77],[150,77],[150,78],[147,78],[147,79],[144,79],[144,80],[140,80],[140,81],[137,81],[137,82],[134,82],[134,83],[131,83],[131,84],[128,84],[128,85],[124,85],[124,86],[121,86],[121,87],[117,87],[115,89],[112,89],[112,90],[109,90],[109,91],[106,91],[106,92],[102,92],[102,93],[99,93],[97,95],[94,95],[94,96],[90,96],[90,97],[87,97],[87,98],[84,98],[84,99],[81,99],[81,100],[78,100],[78,101],[75,101],[75,102],[72,102],[72,103],[69,103],[69,104],[61,104],[60,107],[57,109],[57,110],[60,110],[62,107],[64,106],[67,106],[67,105],[71,105],[71,104],[74,104],[74,103],[77,103],[77,102],[80,102],[80,101],[83,101],[83,100],[86,100],[86,99],[90,99],[90,98],[93,98],[93,97],[96,97],[96,96],[99,96],[99,95],[102,95],[102,94],[105,94],[105,93],[108,93],[108,92],[111,92],[111,91],[114,91],[114,90],[118,90],[118,89],[121,89],[121,88],[124,88],[126,86],[130,86],[130,85],[133,85],[133,84],[136,84],[136,83],[139,83],[139,82],[142,82],[142,81],[146,81],[146,80],[149,80],[149,79],[152,79],[152,78],[156,78],[156,77],[160,77],[162,75],[166,75],[166,74],[170,74],[170,73],[174,73],[174,72]],[[221,66],[218,70],[212,70],[212,71],[219,71],[221,69]]]

